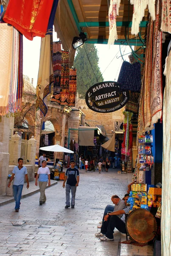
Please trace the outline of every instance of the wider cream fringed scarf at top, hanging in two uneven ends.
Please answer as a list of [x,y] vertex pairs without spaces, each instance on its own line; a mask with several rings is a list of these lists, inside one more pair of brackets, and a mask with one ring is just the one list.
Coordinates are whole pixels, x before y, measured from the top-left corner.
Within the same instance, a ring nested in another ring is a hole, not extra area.
[[155,20],[155,0],[130,0],[130,3],[134,5],[131,34],[137,35],[147,5],[149,6],[149,13],[151,14],[152,20]]

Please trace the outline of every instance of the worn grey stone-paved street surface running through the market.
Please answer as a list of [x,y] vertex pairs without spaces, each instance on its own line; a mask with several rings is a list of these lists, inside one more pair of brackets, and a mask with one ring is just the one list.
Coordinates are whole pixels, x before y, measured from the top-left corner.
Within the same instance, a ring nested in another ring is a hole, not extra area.
[[[74,209],[64,209],[62,183],[46,190],[47,202],[42,206],[36,193],[21,200],[19,212],[14,211],[14,202],[0,207],[0,256],[120,255],[117,230],[115,241],[104,242],[94,234],[99,231],[104,207],[111,204],[111,195],[122,198],[126,193],[127,174],[112,169],[101,174],[82,170]],[[152,255],[148,247],[143,248],[121,244],[121,256]]]

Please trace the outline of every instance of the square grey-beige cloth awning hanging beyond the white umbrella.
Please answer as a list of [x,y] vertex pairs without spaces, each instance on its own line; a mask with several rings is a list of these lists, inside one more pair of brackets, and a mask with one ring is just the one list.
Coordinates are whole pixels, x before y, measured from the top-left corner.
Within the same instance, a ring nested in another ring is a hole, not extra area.
[[94,146],[94,130],[85,130],[81,131],[79,128],[79,145],[80,146]]

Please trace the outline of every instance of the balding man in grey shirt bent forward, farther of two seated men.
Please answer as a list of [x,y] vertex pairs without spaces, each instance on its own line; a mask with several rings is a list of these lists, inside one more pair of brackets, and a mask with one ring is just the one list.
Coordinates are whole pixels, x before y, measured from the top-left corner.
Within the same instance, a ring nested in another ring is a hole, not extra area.
[[[129,198],[129,195],[126,194],[124,198],[126,198],[126,200],[127,200]],[[111,201],[113,204],[115,204],[115,207],[108,204],[104,210],[104,216],[106,216],[108,212],[118,211],[118,210],[122,210],[122,209],[126,208],[126,203],[125,203],[126,200],[124,201],[123,199],[121,200],[118,197],[118,195],[112,195]],[[104,216],[103,216],[102,223],[104,222]],[[122,215],[121,215],[121,217],[122,217]],[[101,228],[101,225],[98,225],[98,227]]]

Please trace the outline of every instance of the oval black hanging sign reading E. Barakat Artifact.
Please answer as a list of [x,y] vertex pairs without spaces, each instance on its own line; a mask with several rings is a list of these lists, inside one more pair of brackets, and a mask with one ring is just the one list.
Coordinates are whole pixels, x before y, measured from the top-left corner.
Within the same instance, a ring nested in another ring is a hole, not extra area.
[[117,82],[101,82],[87,90],[85,100],[87,106],[95,112],[114,112],[126,105],[129,100],[129,91],[121,91]]

